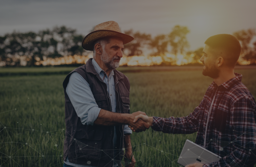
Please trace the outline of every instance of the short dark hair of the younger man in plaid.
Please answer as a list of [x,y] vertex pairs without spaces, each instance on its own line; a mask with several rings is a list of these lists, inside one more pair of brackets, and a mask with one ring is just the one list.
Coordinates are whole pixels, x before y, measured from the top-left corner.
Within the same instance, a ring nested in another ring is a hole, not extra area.
[[225,52],[223,57],[225,64],[234,67],[240,56],[241,45],[237,38],[230,34],[218,34],[209,37],[205,42],[206,45],[214,49],[222,49]]

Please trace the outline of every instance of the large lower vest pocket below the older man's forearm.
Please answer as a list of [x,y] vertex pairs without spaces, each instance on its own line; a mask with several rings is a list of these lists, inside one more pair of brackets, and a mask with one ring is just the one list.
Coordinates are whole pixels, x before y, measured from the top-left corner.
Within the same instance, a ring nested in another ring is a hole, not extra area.
[[76,158],[98,159],[102,147],[102,130],[79,130],[76,134]]

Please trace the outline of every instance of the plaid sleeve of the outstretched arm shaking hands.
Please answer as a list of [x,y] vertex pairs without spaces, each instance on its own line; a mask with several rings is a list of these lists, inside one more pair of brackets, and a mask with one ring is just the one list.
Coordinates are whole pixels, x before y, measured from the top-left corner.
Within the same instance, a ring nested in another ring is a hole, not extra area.
[[180,118],[153,117],[152,129],[172,134],[191,134],[198,131],[198,120],[200,117],[201,105],[195,108],[189,116]]

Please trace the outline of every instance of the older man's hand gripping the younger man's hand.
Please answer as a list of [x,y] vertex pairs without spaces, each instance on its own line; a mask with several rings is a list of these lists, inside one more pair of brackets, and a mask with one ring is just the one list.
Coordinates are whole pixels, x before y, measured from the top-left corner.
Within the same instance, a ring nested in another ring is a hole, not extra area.
[[133,130],[133,132],[142,132],[142,131],[146,131],[146,129],[149,129],[149,125],[143,121],[143,120],[138,120],[137,122],[134,122],[134,119],[136,116],[138,115],[146,115],[146,113],[138,111],[135,113],[131,114],[130,120],[129,120],[129,127]]

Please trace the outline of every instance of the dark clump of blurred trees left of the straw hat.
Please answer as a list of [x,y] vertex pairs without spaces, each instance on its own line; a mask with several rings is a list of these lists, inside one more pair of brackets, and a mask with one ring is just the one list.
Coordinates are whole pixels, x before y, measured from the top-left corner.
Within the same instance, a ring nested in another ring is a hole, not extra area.
[[33,66],[36,61],[44,57],[82,55],[85,51],[81,46],[82,40],[82,35],[76,34],[75,29],[66,26],[54,27],[52,30],[46,29],[38,33],[14,31],[0,37],[0,58],[6,66],[25,64]]

